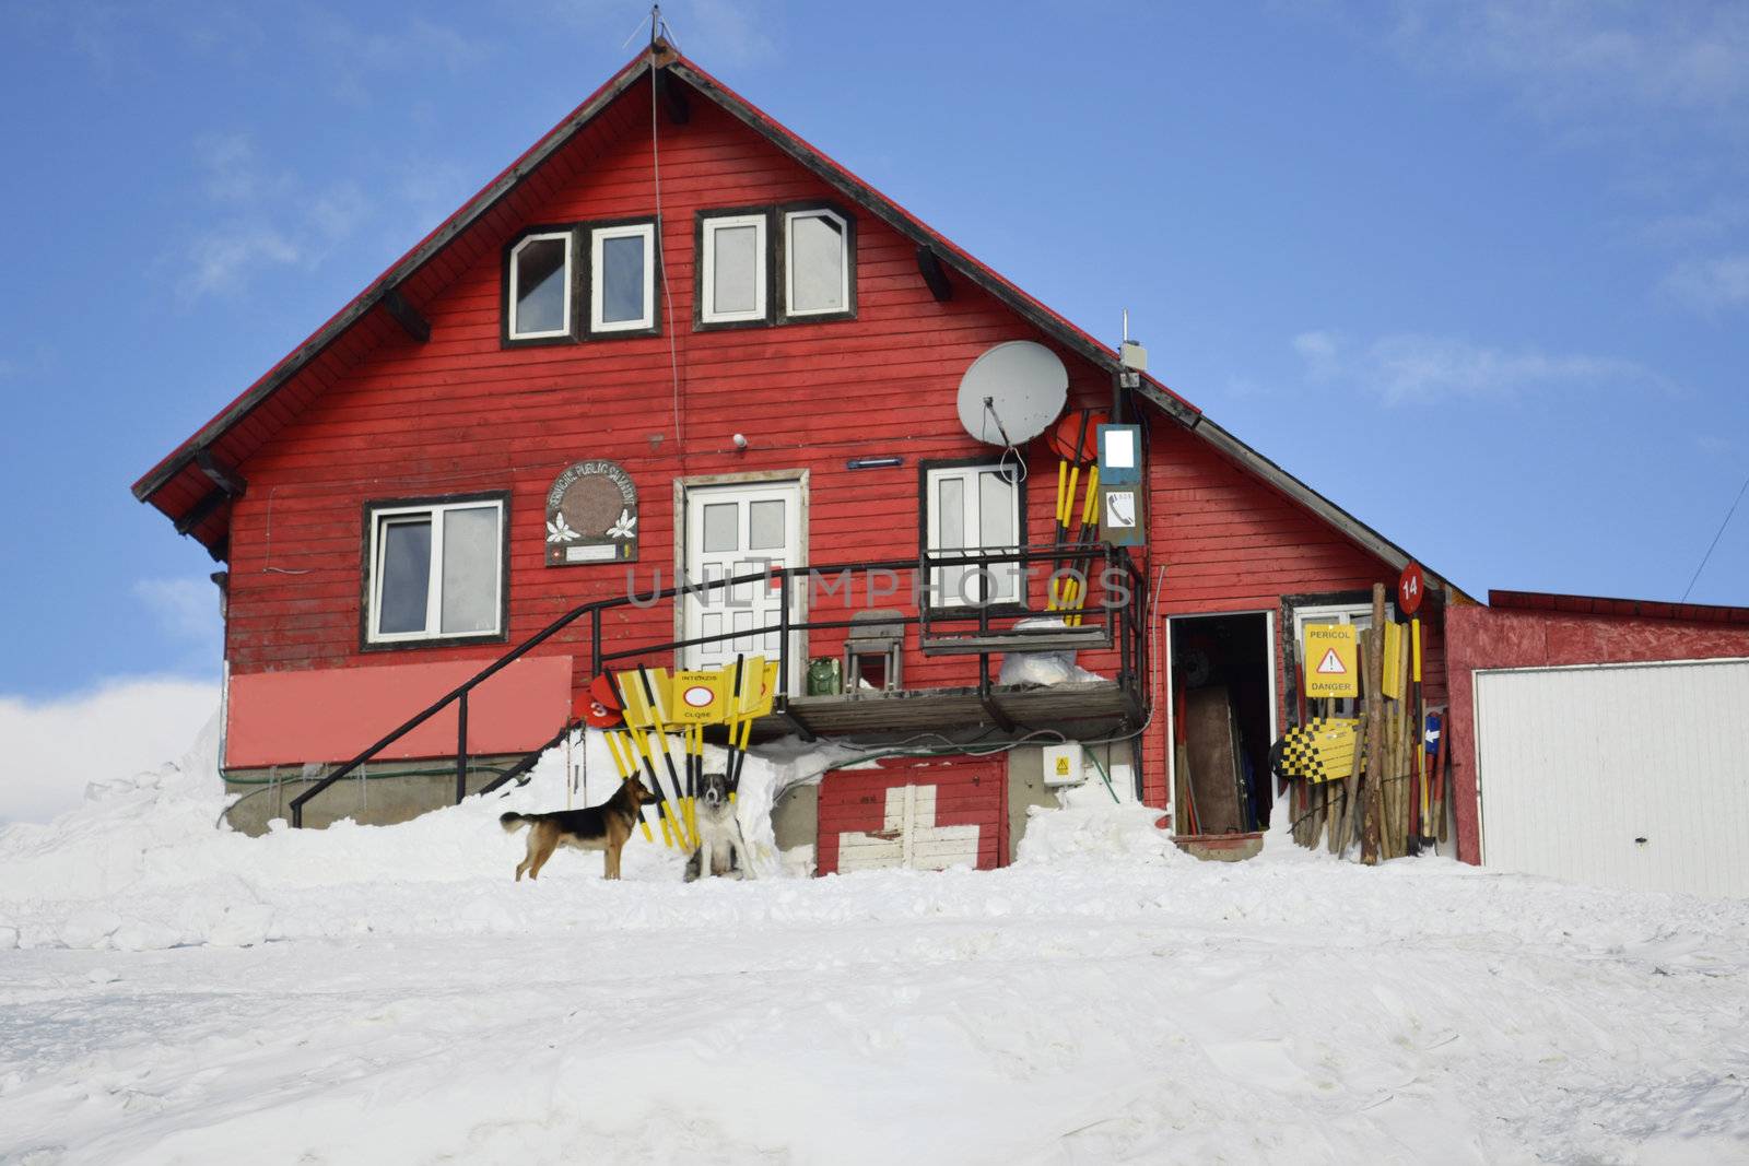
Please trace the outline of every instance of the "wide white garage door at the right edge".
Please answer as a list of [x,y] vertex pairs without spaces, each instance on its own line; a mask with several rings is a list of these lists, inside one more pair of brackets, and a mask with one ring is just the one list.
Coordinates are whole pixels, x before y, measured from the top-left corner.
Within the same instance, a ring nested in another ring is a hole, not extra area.
[[1749,895],[1749,661],[1476,673],[1481,862]]

